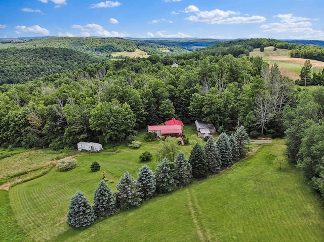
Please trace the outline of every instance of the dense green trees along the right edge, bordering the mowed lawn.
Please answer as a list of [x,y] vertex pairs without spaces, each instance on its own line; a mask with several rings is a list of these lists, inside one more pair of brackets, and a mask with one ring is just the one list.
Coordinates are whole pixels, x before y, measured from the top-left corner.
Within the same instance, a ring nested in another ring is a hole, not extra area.
[[284,110],[288,157],[324,198],[324,88],[304,90],[296,105]]

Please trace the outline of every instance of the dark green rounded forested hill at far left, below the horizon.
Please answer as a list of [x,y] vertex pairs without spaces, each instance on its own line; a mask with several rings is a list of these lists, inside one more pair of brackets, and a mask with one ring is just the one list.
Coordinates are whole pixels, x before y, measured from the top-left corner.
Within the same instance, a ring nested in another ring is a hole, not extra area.
[[101,59],[66,48],[0,49],[0,84],[20,83],[36,77],[71,72]]

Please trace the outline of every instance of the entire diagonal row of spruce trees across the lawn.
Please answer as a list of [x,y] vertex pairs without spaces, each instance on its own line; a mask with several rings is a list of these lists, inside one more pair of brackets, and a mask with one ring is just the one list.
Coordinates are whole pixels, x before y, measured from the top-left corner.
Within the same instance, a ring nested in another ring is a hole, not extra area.
[[168,193],[177,187],[189,185],[192,178],[201,180],[209,174],[216,174],[245,156],[249,136],[241,126],[230,137],[221,133],[214,141],[213,137],[209,138],[204,148],[196,143],[189,160],[182,151],[174,161],[164,158],[157,165],[155,173],[147,165],[140,168],[137,179],[126,171],[116,185],[115,192],[101,180],[94,194],[93,206],[82,191],[77,191],[70,201],[68,224],[75,229],[87,228],[96,219],[111,216],[117,209],[127,210],[139,206],[155,193]]

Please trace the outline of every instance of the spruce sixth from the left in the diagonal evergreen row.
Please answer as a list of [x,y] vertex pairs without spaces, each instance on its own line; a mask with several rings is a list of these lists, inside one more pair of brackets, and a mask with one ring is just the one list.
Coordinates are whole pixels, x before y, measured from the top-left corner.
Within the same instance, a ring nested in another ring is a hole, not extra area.
[[176,164],[176,177],[175,179],[179,182],[179,186],[186,186],[191,182],[191,165],[185,158],[184,153],[180,151],[177,158],[174,160]]

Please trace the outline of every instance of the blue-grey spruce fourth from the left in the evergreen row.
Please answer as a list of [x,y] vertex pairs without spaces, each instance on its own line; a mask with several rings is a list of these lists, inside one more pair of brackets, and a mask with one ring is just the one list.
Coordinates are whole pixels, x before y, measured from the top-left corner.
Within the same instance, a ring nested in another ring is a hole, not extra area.
[[156,182],[153,171],[144,165],[137,175],[137,186],[141,192],[142,199],[150,198],[156,189]]

